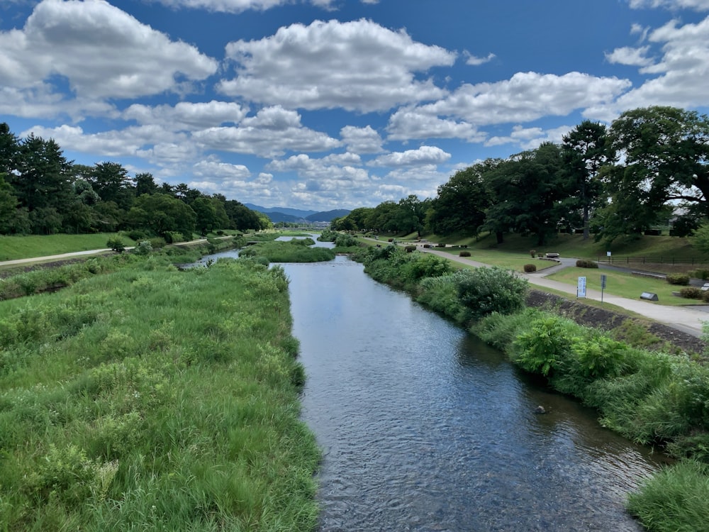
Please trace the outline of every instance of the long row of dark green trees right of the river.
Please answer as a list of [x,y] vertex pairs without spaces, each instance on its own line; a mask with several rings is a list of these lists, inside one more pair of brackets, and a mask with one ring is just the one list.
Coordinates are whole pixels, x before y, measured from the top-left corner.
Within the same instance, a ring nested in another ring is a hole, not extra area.
[[610,126],[583,121],[561,144],[542,143],[506,159],[456,172],[437,195],[410,195],[333,220],[340,231],[559,231],[612,242],[671,221],[691,235],[709,216],[709,119],[696,111],[651,106],[622,113]]

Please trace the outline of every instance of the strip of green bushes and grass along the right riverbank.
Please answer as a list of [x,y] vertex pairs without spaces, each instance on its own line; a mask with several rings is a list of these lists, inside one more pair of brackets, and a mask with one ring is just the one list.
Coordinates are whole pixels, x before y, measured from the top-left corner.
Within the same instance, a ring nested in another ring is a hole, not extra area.
[[452,271],[443,258],[393,245],[354,258],[374,279],[406,289],[553,389],[596,408],[603,426],[677,458],[630,496],[627,509],[649,531],[708,530],[709,367],[525,308],[527,282],[501,268]]

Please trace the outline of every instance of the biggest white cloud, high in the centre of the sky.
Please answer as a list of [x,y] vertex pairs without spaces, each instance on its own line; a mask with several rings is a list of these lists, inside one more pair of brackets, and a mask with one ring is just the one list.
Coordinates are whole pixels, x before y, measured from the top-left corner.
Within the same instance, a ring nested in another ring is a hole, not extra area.
[[226,55],[237,76],[220,82],[223,94],[291,109],[365,112],[441,98],[443,89],[415,74],[455,60],[453,52],[367,20],[294,24],[229,43]]

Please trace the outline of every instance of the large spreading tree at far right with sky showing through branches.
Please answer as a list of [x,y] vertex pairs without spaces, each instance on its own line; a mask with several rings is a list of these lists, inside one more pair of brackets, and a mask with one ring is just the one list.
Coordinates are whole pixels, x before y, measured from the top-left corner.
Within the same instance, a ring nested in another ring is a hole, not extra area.
[[709,215],[709,120],[696,111],[652,106],[610,126],[617,165],[604,172],[609,205],[597,238],[640,233],[668,217],[667,206]]

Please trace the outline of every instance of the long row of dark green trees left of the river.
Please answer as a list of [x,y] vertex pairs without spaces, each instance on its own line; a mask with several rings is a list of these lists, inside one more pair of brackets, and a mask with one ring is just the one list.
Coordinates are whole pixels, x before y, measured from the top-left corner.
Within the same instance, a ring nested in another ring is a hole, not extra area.
[[269,226],[266,215],[222,194],[157,184],[147,172],[131,178],[117,162],[74,164],[55,140],[20,139],[0,123],[0,234],[143,231],[191,238],[193,231]]

